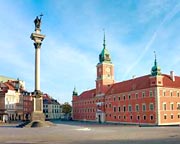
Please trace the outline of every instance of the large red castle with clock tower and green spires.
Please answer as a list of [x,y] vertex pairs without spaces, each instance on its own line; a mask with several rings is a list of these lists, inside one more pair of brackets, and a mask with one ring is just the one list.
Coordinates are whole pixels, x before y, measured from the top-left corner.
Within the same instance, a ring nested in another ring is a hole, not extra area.
[[115,83],[114,65],[106,49],[97,64],[96,88],[74,89],[73,119],[128,124],[180,124],[180,77],[161,74],[156,57],[151,74]]

